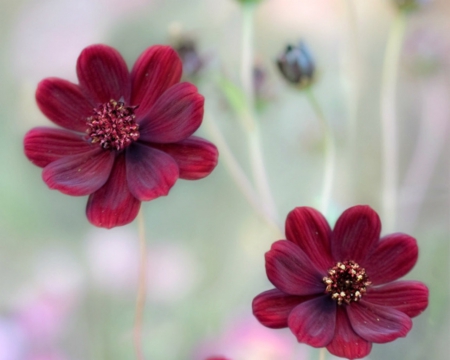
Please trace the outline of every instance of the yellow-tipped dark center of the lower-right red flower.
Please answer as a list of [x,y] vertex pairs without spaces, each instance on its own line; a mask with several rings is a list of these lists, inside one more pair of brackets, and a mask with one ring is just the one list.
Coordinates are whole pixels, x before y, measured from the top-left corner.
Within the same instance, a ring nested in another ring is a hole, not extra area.
[[371,284],[366,270],[354,261],[338,262],[328,270],[328,275],[323,278],[327,286],[325,292],[331,294],[338,305],[359,301]]

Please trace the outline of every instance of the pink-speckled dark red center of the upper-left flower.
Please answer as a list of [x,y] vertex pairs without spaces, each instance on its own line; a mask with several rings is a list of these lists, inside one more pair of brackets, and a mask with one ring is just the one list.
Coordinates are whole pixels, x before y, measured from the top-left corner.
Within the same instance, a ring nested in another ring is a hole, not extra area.
[[103,149],[123,150],[139,138],[139,125],[134,121],[136,106],[125,106],[122,101],[110,100],[94,109],[87,118],[86,133],[91,143]]

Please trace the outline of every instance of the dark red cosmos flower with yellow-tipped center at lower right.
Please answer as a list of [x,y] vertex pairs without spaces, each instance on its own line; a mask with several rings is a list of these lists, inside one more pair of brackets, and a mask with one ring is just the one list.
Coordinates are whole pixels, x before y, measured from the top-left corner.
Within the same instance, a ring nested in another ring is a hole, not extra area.
[[414,238],[380,239],[381,223],[369,206],[346,210],[331,230],[309,207],[286,219],[286,238],[266,253],[267,277],[276,287],[253,300],[253,314],[270,328],[289,327],[302,343],[349,359],[372,343],[406,336],[411,318],[428,305],[428,288],[395,281],[417,261]]

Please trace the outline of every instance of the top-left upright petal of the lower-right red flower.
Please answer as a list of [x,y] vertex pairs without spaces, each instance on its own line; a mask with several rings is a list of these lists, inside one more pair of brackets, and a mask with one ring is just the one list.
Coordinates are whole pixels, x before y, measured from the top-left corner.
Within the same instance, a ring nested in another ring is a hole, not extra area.
[[300,246],[305,254],[326,272],[334,265],[331,258],[331,229],[327,220],[317,210],[297,207],[286,219],[286,238]]

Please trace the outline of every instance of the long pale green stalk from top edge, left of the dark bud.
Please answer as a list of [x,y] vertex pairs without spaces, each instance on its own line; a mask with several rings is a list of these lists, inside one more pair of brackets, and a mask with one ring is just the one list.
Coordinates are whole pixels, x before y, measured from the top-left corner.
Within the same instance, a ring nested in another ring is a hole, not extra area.
[[246,104],[246,110],[242,116],[248,129],[248,144],[253,181],[257,192],[261,197],[264,212],[269,213],[272,219],[277,219],[275,202],[272,198],[269,182],[267,180],[262,153],[261,135],[255,114],[255,92],[253,87],[253,20],[255,8],[256,5],[252,3],[242,4],[241,83],[245,94]]

